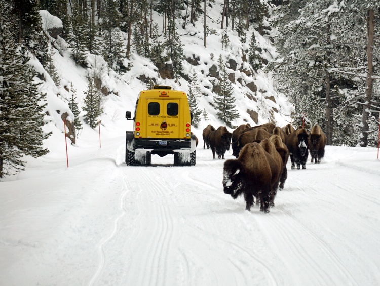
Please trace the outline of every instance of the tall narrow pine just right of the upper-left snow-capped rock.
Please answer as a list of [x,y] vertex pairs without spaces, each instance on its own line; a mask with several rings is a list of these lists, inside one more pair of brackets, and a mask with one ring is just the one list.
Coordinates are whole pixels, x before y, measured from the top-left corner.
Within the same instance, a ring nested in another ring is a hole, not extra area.
[[71,57],[75,64],[83,67],[87,66],[86,33],[86,21],[83,18],[78,3],[74,1],[71,9],[67,42],[72,49]]

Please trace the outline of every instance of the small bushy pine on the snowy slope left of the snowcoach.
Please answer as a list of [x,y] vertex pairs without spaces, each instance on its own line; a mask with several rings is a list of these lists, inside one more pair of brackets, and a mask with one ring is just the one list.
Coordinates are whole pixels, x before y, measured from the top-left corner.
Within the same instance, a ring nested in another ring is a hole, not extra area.
[[102,95],[96,89],[94,81],[90,78],[84,103],[82,107],[86,114],[83,116],[85,123],[90,125],[91,128],[95,128],[98,125],[98,118],[103,113],[102,107]]

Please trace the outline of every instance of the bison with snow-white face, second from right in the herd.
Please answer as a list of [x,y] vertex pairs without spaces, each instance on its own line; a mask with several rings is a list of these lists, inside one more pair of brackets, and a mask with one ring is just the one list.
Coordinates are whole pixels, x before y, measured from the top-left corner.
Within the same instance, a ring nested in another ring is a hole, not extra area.
[[292,162],[292,169],[306,169],[306,161],[308,160],[309,150],[309,134],[305,128],[298,128],[295,132],[292,132],[286,138],[286,147],[288,147],[290,160]]

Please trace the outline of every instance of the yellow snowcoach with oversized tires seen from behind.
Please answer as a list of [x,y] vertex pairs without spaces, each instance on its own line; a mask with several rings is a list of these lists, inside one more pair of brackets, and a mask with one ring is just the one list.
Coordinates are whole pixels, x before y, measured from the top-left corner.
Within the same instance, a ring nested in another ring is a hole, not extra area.
[[127,131],[125,162],[150,165],[151,154],[174,154],[175,166],[195,165],[196,142],[191,134],[187,95],[168,86],[154,86],[137,97],[133,131]]

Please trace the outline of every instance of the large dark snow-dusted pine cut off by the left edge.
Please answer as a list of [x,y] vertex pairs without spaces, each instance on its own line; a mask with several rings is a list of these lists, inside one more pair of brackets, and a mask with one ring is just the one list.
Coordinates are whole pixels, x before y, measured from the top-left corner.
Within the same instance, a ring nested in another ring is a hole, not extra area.
[[24,170],[23,155],[40,157],[49,152],[42,148],[49,135],[42,131],[45,95],[39,92],[28,61],[0,23],[0,178]]

